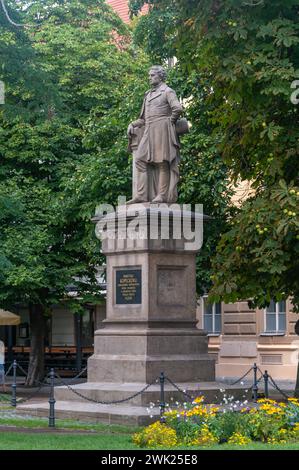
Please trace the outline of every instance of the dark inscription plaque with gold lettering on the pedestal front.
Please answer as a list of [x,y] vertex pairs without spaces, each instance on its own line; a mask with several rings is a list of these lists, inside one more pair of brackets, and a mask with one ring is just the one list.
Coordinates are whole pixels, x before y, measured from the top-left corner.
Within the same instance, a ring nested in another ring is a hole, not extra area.
[[119,269],[115,281],[117,304],[141,304],[141,269]]

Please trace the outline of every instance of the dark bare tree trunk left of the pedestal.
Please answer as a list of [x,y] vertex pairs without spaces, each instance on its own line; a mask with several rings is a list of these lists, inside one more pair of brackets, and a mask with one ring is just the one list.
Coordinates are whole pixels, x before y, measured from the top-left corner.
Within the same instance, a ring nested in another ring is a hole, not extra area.
[[29,357],[28,375],[25,382],[27,386],[36,385],[44,378],[45,369],[45,331],[46,321],[44,307],[31,305],[29,308],[31,348]]

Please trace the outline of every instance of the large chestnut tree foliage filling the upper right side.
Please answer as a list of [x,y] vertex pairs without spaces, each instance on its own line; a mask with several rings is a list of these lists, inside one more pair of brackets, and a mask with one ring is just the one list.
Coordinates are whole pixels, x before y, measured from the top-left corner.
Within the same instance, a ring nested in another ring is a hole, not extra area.
[[[299,108],[291,102],[298,1],[131,0],[132,12],[146,3],[182,69],[206,82],[206,116],[232,181],[249,180],[256,190],[220,241],[211,299],[264,306],[292,296],[299,310],[298,201],[291,193],[299,183]],[[261,221],[263,235],[255,228]]]

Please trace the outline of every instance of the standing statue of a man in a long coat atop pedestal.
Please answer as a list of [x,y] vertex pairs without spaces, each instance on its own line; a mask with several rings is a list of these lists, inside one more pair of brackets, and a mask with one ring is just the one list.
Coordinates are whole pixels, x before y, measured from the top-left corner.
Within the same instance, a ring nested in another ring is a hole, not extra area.
[[151,67],[149,81],[152,88],[145,93],[139,119],[128,127],[129,148],[133,150],[135,166],[135,190],[129,204],[177,200],[180,144],[175,124],[183,108],[165,80],[163,67]]

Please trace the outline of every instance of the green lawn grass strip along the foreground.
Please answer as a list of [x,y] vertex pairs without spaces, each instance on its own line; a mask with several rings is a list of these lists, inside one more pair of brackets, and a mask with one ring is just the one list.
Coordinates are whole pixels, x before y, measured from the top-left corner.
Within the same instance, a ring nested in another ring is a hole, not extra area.
[[[7,412],[13,413],[14,409],[10,407]],[[19,428],[20,430],[21,428],[28,429],[28,433],[18,432],[17,430],[11,432],[9,429],[0,432],[0,451],[140,450],[139,447],[133,444],[132,434],[141,428],[132,426],[106,425],[101,423],[88,424],[74,420],[57,419],[56,429],[58,432],[55,432],[55,429],[48,429],[47,418],[8,416],[6,413],[0,413],[0,426]],[[37,432],[34,432],[34,429]],[[69,431],[69,434],[66,432],[59,433],[59,430]],[[180,447],[176,450],[299,450],[299,442],[275,445],[255,442],[247,446],[222,444],[211,447]]]

